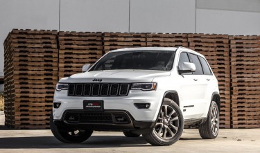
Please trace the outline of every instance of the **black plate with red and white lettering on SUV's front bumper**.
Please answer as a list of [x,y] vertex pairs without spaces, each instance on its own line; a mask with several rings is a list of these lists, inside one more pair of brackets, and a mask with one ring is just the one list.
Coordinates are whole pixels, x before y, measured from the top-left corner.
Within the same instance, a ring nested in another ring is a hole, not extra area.
[[83,108],[86,111],[103,111],[104,102],[103,100],[84,100]]

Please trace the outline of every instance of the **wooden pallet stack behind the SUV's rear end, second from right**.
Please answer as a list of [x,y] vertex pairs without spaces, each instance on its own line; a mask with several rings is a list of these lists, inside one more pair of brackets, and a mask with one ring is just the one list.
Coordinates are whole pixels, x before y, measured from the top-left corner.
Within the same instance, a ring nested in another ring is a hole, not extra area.
[[228,35],[189,34],[189,48],[205,55],[218,79],[220,127],[230,128],[230,67]]

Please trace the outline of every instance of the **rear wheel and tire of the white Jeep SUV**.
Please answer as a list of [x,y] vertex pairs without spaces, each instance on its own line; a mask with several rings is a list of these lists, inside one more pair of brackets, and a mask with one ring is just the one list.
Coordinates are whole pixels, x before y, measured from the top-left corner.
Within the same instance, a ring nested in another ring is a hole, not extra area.
[[[211,122],[212,120],[212,122]],[[219,130],[219,110],[216,102],[212,101],[209,114],[205,123],[198,127],[200,136],[205,139],[214,139],[218,136]]]

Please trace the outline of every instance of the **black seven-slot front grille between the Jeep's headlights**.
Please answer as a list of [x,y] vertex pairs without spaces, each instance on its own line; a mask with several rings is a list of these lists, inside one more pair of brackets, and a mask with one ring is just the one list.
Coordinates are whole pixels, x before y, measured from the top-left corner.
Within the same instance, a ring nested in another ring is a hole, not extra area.
[[69,84],[68,96],[128,96],[130,84],[76,83]]

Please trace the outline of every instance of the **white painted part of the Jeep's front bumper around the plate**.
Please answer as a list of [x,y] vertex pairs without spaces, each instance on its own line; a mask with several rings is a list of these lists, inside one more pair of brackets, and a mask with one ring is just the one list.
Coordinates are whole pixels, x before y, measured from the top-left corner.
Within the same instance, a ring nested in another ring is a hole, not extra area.
[[[157,119],[162,104],[163,91],[130,90],[128,96],[120,97],[76,97],[67,96],[67,91],[55,91],[53,102],[60,102],[58,109],[53,108],[53,119],[62,120],[63,114],[71,109],[83,110],[84,100],[103,100],[104,111],[125,111],[132,116],[132,120],[153,122]],[[148,109],[138,109],[135,103],[150,103]]]

